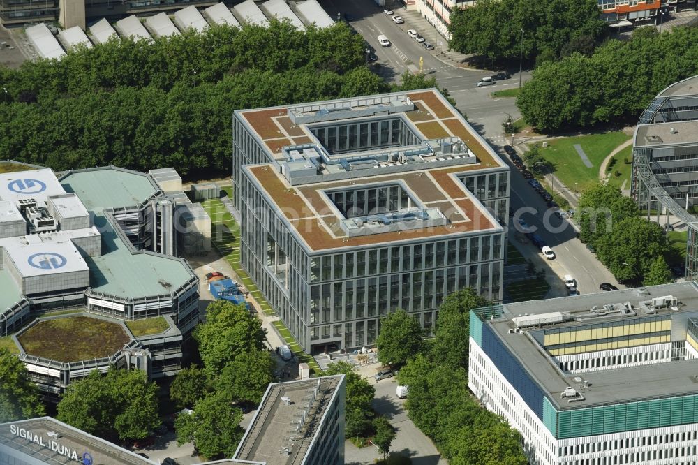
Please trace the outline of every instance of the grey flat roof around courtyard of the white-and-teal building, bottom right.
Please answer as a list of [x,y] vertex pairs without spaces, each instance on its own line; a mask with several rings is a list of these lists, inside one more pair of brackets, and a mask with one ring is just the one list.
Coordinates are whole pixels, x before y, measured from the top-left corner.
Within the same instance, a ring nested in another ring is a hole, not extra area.
[[[579,312],[579,314],[589,316],[591,307],[602,307],[605,304],[622,302],[630,302],[637,316],[599,317],[591,318],[584,322],[568,321],[546,325],[542,330],[559,327],[574,328],[590,323],[607,323],[618,320],[632,321],[634,318],[645,318],[651,315],[644,313],[639,308],[639,302],[666,295],[677,297],[678,300],[683,302],[683,306],[679,307],[679,311],[658,309],[654,313],[655,315],[677,315],[693,312],[696,312],[698,315],[698,286],[694,281],[648,286],[641,289],[644,289],[644,292],[637,289],[623,289],[604,293],[504,304],[503,309],[505,313],[502,318],[487,320],[484,324],[492,327],[510,353],[517,358],[521,366],[537,381],[544,392],[547,392],[549,400],[558,410],[695,394],[697,389],[696,383],[691,375],[695,374],[698,368],[698,360],[661,362],[639,367],[616,367],[602,371],[563,374],[554,365],[551,357],[544,352],[544,349],[529,334],[529,331],[524,328],[523,334],[510,333],[510,330],[514,330],[517,327],[512,321],[512,318],[517,315],[526,313],[535,315],[559,311],[562,313],[571,312],[573,314],[574,312]],[[535,330],[531,330],[531,332],[533,331]],[[588,382],[589,387],[580,390],[579,383],[574,381],[574,378],[577,376],[584,378]],[[563,401],[560,398],[560,394],[568,386],[579,390],[585,399],[571,404]]]

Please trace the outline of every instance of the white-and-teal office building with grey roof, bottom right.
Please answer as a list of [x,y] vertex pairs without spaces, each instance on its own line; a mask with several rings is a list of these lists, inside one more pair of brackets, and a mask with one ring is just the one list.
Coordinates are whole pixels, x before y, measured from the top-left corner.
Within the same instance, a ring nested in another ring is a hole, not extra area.
[[468,385],[533,465],[698,462],[695,281],[470,312]]

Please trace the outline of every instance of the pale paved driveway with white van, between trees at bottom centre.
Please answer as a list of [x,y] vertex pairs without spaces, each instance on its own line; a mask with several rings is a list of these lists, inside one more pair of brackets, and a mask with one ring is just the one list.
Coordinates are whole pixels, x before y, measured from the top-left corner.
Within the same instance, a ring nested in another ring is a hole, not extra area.
[[[373,367],[372,371],[375,373],[376,368]],[[448,462],[441,458],[431,439],[424,436],[412,420],[407,418],[407,411],[403,408],[406,399],[398,399],[395,395],[397,385],[395,378],[378,382],[369,379],[369,383],[376,388],[373,408],[387,416],[390,424],[397,430],[395,439],[390,445],[390,451],[407,455],[412,459],[413,465],[447,465]],[[376,459],[380,459],[380,452],[372,445],[359,449],[346,441],[344,447],[344,462],[348,465],[373,464]]]

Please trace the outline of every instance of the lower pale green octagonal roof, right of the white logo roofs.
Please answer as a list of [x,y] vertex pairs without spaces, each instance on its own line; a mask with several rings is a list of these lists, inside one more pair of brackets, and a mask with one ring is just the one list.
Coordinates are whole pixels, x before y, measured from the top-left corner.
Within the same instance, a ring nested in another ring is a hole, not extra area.
[[140,251],[133,253],[103,214],[95,214],[94,226],[102,234],[102,256],[84,256],[93,290],[138,299],[168,294],[193,276],[179,258]]

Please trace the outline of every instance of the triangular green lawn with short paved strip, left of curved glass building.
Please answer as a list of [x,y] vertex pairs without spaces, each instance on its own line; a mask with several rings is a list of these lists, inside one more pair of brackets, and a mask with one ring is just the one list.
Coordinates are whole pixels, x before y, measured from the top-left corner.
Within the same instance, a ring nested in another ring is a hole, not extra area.
[[[567,189],[579,192],[599,182],[599,168],[604,158],[628,139],[630,136],[621,132],[555,139],[549,141],[548,147],[541,148],[540,154],[554,165],[556,177]],[[581,161],[574,149],[577,144],[591,161],[591,168],[587,168]]]

